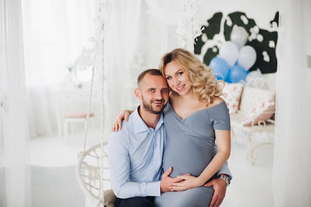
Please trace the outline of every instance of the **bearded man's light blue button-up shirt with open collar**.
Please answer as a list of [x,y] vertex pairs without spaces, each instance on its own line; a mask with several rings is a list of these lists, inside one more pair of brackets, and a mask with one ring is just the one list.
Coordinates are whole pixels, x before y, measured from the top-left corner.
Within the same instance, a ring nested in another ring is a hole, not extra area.
[[109,171],[118,198],[160,196],[165,129],[161,114],[156,128],[148,128],[136,109],[122,130],[108,140]]

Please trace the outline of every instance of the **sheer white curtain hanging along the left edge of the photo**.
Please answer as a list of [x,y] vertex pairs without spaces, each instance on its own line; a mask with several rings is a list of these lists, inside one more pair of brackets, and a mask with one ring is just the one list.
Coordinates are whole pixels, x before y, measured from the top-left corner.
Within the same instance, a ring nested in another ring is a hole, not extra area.
[[30,207],[29,130],[20,0],[0,0],[2,207]]

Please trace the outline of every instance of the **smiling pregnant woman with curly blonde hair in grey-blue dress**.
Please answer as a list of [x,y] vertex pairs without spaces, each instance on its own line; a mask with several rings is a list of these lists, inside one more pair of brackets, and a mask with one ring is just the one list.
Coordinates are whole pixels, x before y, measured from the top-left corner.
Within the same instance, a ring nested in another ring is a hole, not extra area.
[[[155,198],[158,207],[207,207],[214,190],[204,183],[228,160],[230,116],[222,95],[223,81],[189,51],[175,49],[160,60],[159,70],[171,89],[164,109],[166,146],[163,170],[184,179],[172,192]],[[214,155],[214,143],[218,152]],[[191,176],[179,176],[190,173]],[[187,190],[188,189],[188,190]]]

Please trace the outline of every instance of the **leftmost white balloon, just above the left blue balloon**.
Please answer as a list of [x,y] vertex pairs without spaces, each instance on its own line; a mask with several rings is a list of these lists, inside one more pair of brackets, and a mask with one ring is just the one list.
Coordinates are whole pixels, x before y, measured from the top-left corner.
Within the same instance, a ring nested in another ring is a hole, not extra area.
[[218,56],[224,59],[227,62],[229,68],[231,68],[236,63],[238,49],[233,42],[227,41],[220,47]]

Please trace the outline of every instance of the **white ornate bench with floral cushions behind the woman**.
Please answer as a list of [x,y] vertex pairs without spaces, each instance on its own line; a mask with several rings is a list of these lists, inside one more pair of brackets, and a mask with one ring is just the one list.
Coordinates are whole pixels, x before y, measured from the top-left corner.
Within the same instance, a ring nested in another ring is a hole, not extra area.
[[257,147],[274,144],[275,91],[271,88],[266,79],[249,78],[246,83],[226,83],[224,89],[230,109],[232,140],[247,143],[248,159],[252,165],[257,158],[253,155]]

